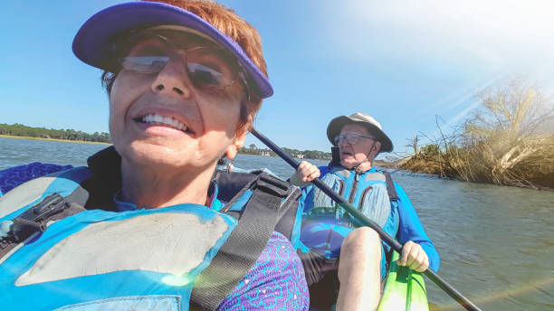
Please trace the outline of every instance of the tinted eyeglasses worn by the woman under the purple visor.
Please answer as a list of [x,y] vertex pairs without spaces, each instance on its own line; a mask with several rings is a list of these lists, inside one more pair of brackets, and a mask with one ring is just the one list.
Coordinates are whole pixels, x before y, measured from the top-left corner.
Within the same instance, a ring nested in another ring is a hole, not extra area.
[[[217,46],[203,46],[202,42],[208,41],[190,33],[147,30],[114,43],[114,50],[125,70],[158,74],[172,57],[177,56],[185,61],[188,78],[196,88],[223,90],[239,78],[249,95],[244,70],[234,54]],[[191,43],[194,46],[191,47]]]

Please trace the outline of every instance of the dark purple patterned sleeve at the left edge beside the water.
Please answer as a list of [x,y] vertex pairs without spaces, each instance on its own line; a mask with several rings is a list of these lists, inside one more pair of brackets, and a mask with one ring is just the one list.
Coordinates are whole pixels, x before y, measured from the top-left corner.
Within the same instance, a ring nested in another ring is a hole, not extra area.
[[72,167],[72,165],[48,165],[34,162],[29,165],[18,165],[6,168],[0,171],[0,195],[34,178],[70,169]]

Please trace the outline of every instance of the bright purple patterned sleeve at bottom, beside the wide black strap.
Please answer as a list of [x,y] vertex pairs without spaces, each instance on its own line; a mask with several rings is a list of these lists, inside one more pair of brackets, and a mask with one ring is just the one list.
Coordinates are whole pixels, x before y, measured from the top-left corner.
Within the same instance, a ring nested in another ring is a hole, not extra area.
[[260,258],[219,310],[308,310],[310,294],[291,242],[273,232]]

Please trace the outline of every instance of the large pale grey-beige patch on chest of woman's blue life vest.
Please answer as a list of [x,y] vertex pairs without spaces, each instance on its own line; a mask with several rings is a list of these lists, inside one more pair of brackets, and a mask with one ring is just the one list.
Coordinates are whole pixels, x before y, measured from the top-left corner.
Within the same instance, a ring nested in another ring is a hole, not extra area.
[[[228,236],[228,231],[234,228],[236,222],[230,218],[225,220],[222,214],[207,211],[198,213],[198,208],[193,205],[193,211],[191,206],[183,206],[178,212],[143,213],[128,219],[118,219],[108,214],[103,221],[98,216],[89,215],[91,212],[85,212],[75,216],[73,223],[54,223],[55,226],[49,228],[45,239],[53,234],[62,235],[64,231],[81,230],[46,250],[31,269],[17,278],[15,285],[25,286],[122,270],[189,276],[205,259],[208,251],[216,247],[217,243],[223,245],[224,240],[220,240],[220,237]],[[195,239],[176,239],[186,237],[191,232],[203,234]],[[34,243],[33,248],[36,250],[40,244],[38,241]],[[86,248],[83,247],[85,245]],[[141,249],[148,250],[148,256],[136,254]],[[95,256],[91,257],[91,253]],[[69,262],[72,264],[68,265]]]

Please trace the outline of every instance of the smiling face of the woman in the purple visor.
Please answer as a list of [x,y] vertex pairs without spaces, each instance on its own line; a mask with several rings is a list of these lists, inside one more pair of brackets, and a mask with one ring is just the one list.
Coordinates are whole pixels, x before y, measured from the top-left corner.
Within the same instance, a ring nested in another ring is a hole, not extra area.
[[[186,47],[165,52],[169,57],[162,65],[148,62],[148,68],[158,65],[154,72],[137,66],[144,63],[144,55],[163,54],[160,51],[167,47],[146,41],[129,48],[130,55],[139,55],[139,59],[123,65],[110,92],[110,134],[124,160],[160,168],[202,168],[214,165],[225,152],[234,157],[244,145],[246,132],[236,133],[244,98],[241,83],[209,90],[194,80],[210,71],[204,64],[215,63],[217,67],[212,67],[223,72],[233,69],[214,55],[193,55],[191,59],[192,52],[186,50],[196,52],[196,47],[210,43],[191,35],[182,38],[186,38]],[[198,68],[196,76],[191,73]]]

